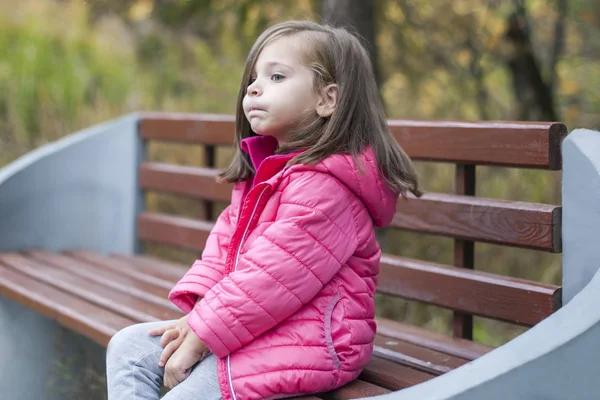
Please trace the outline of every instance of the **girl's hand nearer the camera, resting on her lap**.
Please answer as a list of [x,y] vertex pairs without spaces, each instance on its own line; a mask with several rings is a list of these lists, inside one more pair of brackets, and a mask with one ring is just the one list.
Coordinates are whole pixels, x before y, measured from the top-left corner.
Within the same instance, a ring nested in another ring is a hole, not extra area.
[[206,358],[209,350],[202,340],[194,333],[188,334],[181,346],[167,361],[164,374],[164,385],[169,389],[183,382],[192,368]]

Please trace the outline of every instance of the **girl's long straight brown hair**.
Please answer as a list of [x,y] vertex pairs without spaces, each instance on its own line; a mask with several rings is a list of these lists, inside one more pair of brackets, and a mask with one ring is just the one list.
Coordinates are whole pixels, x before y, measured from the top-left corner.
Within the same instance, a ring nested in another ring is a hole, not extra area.
[[347,30],[310,21],[275,25],[263,32],[250,50],[237,100],[236,154],[220,178],[238,182],[255,172],[248,154],[240,149],[242,139],[256,135],[244,115],[242,101],[260,52],[282,37],[305,39],[303,61],[315,74],[315,90],[335,83],[338,103],[330,117],[315,115],[307,126],[290,132],[278,153],[305,150],[290,160],[290,165],[316,164],[333,154],[350,154],[356,159],[371,147],[389,187],[402,195],[412,192],[419,196],[413,163],[390,134],[367,51]]

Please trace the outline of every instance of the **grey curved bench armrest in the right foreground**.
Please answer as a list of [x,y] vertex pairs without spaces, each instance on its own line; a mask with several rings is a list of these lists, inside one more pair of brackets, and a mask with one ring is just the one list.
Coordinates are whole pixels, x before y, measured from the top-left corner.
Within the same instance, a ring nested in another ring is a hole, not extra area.
[[563,143],[564,306],[509,343],[381,400],[593,399],[600,392],[600,132]]

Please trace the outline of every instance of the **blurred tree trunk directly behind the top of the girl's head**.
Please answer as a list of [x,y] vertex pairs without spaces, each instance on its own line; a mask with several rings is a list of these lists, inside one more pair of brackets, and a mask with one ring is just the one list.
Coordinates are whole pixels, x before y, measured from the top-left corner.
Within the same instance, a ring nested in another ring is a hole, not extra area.
[[323,22],[341,26],[362,38],[369,52],[377,85],[381,85],[379,62],[377,57],[375,1],[323,0]]

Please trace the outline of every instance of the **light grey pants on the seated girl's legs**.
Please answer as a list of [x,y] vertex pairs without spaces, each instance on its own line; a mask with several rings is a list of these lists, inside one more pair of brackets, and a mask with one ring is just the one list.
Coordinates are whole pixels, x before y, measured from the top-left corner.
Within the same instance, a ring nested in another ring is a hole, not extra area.
[[[175,321],[129,326],[111,339],[106,354],[108,400],[157,400],[160,398],[164,368],[158,366],[163,348],[160,336],[150,329]],[[217,358],[210,355],[197,364],[190,376],[171,389],[163,399],[220,400]]]

